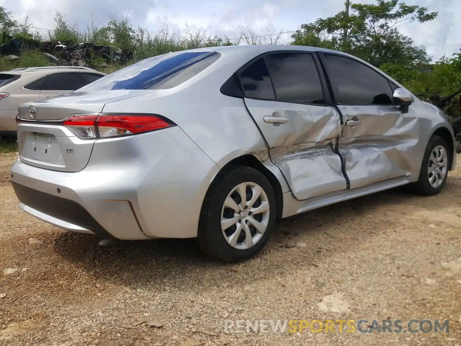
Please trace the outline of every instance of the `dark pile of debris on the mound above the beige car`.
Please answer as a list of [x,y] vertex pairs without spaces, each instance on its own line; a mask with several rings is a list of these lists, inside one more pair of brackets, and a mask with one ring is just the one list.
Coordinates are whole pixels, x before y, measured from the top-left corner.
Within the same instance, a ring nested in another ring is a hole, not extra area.
[[126,49],[97,45],[92,42],[72,45],[71,42],[66,41],[38,42],[11,36],[8,38],[9,43],[0,45],[0,55],[8,55],[11,59],[17,58],[16,55],[27,48],[38,49],[47,55],[53,65],[59,66],[90,66],[89,61],[94,57],[102,58],[107,64],[124,64],[133,58],[133,53]]

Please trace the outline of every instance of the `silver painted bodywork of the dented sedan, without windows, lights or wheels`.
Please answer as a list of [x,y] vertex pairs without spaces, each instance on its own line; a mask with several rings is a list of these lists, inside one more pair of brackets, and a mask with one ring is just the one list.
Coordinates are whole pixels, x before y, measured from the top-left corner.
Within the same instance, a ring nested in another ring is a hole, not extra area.
[[[242,156],[253,156],[278,181],[282,216],[287,217],[415,181],[434,131],[443,128],[453,137],[443,114],[415,96],[408,113],[394,106],[339,106],[344,123],[360,118],[361,124],[353,127],[341,124],[335,107],[225,96],[221,85],[259,54],[328,50],[296,46],[215,50],[222,54],[216,63],[172,89],[76,92],[21,105],[24,119],[30,119],[32,105],[43,123],[19,125],[20,142],[35,132],[52,134],[60,141],[62,158],[34,162],[27,149],[20,149],[12,181],[55,196],[59,186],[59,197],[80,203],[119,239],[188,238],[197,235],[201,206],[213,179]],[[72,113],[91,112],[157,113],[177,126],[80,143],[71,131],[52,124]],[[288,122],[264,121],[273,116]],[[72,160],[64,155],[70,145],[77,154]],[[349,189],[337,150],[343,155]],[[452,162],[451,169],[455,156]],[[90,232],[21,208],[58,227]]]

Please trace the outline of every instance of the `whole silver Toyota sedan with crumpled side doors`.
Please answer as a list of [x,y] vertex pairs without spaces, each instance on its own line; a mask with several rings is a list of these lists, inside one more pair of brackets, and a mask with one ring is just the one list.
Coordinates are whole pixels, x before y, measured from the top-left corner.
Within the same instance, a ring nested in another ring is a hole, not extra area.
[[104,239],[196,238],[225,261],[279,218],[407,184],[434,195],[455,167],[440,109],[320,48],[160,55],[18,111],[21,209]]

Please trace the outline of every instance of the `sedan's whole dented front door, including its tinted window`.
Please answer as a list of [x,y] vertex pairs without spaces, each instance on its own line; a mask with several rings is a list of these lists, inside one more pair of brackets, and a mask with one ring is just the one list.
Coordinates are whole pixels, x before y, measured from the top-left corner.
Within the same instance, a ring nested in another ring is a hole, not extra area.
[[388,78],[340,54],[319,53],[343,116],[339,151],[345,157],[350,189],[408,176],[418,143],[417,114],[393,105]]

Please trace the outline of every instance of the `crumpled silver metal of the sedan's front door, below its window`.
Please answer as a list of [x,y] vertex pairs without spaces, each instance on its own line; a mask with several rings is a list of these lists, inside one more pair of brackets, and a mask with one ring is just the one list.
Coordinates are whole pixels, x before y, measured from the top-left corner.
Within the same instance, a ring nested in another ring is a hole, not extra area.
[[[343,114],[339,150],[345,156],[350,188],[409,176],[414,172],[421,119],[395,106],[338,106]],[[360,125],[347,126],[350,119]]]

